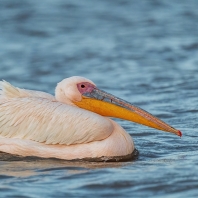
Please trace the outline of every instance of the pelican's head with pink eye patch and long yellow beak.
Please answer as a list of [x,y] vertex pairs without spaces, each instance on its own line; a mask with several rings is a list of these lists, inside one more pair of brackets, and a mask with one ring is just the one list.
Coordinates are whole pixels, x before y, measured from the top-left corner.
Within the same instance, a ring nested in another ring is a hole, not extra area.
[[74,76],[58,83],[55,91],[58,101],[95,112],[101,116],[136,122],[158,130],[182,136],[182,133],[147,111],[102,91],[83,77]]

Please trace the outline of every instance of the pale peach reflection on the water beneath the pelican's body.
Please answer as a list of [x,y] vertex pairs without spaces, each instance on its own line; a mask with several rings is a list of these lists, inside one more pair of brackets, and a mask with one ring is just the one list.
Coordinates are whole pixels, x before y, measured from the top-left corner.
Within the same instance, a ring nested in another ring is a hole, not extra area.
[[133,164],[133,162],[69,162],[60,160],[15,161],[1,163],[0,175],[2,178],[29,177],[34,175],[50,174],[54,171],[65,172],[67,175],[86,174],[89,169],[119,168]]

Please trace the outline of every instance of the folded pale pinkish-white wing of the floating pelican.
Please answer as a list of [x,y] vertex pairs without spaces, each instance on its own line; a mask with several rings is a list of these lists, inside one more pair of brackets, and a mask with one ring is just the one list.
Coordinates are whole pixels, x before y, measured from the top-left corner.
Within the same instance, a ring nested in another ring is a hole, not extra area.
[[82,144],[107,138],[111,122],[95,113],[46,98],[0,101],[0,135],[45,144]]

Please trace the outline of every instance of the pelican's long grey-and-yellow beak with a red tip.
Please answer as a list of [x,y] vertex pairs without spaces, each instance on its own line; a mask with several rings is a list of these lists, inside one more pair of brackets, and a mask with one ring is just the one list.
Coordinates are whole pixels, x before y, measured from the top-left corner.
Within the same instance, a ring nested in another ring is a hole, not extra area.
[[96,87],[91,92],[83,93],[82,100],[74,102],[74,104],[102,116],[129,120],[158,130],[171,132],[180,137],[182,136],[179,130],[152,114]]

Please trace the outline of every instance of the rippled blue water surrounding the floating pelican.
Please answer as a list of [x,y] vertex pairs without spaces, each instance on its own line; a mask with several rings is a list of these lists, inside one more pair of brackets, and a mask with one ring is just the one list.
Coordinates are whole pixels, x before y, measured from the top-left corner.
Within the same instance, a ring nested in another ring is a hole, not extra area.
[[116,120],[131,162],[12,160],[0,197],[197,197],[198,1],[0,1],[0,79],[54,93],[79,75],[163,119],[182,138]]

